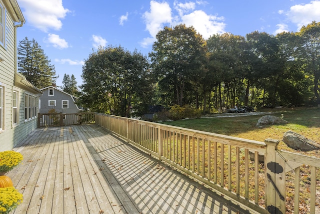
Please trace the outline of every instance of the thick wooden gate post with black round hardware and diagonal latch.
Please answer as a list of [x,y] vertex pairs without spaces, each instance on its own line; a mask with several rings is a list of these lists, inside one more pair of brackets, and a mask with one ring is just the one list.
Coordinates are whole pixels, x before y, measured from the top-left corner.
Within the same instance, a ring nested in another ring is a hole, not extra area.
[[264,155],[265,207],[268,213],[285,213],[284,161],[276,152],[279,140],[266,139]]

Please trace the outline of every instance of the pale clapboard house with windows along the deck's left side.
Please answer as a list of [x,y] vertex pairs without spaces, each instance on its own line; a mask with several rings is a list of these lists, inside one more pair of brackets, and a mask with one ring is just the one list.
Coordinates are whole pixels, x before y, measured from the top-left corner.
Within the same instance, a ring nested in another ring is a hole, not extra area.
[[[16,70],[15,25],[23,24],[24,18],[16,0],[0,0],[4,19],[2,32],[4,39],[0,42],[0,151],[11,150],[21,140],[27,137],[37,122],[37,104],[41,91],[31,85]],[[14,95],[14,96],[13,96]],[[25,115],[25,100],[27,95],[34,103],[27,108],[33,114]],[[15,97],[15,99],[13,99]]]

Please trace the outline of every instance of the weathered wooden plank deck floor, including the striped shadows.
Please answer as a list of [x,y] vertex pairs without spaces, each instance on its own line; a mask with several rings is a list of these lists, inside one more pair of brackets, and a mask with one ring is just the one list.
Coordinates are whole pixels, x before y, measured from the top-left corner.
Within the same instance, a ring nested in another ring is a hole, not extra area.
[[12,213],[252,213],[97,125],[39,128],[13,150]]

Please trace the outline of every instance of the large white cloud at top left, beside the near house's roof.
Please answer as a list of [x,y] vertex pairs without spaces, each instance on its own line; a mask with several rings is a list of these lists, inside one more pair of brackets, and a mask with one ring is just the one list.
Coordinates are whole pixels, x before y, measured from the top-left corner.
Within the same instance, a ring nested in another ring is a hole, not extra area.
[[20,0],[19,5],[24,9],[26,22],[43,32],[49,29],[60,30],[61,19],[70,12],[63,8],[62,0]]

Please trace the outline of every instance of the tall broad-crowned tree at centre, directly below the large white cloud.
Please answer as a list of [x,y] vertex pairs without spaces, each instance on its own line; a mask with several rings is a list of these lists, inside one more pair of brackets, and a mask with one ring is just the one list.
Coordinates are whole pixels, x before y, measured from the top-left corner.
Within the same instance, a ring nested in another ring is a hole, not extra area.
[[[149,54],[158,87],[169,105],[186,104],[185,90],[196,91],[194,82],[202,71],[205,61],[205,41],[193,27],[165,27],[156,35],[156,42]],[[193,82],[193,84],[192,84]],[[192,86],[193,85],[193,86]]]

